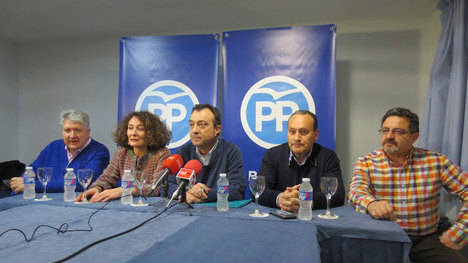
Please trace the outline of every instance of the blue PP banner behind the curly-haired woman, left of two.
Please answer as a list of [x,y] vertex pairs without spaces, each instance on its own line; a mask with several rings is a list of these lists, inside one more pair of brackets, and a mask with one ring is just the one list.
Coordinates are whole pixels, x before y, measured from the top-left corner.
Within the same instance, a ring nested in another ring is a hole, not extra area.
[[121,38],[118,120],[150,111],[172,131],[169,148],[182,146],[192,107],[216,105],[218,60],[216,34]]

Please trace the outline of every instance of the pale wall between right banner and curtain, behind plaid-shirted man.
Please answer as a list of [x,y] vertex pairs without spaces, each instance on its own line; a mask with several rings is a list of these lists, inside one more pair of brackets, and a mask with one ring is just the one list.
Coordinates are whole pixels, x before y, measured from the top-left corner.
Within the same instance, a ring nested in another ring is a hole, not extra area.
[[354,161],[380,147],[377,130],[386,110],[407,107],[422,120],[438,15],[337,23],[336,142],[345,182]]

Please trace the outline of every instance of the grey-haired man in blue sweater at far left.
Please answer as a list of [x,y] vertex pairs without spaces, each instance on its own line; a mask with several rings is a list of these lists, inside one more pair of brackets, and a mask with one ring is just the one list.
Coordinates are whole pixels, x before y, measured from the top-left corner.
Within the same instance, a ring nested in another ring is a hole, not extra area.
[[[78,110],[66,110],[61,113],[62,138],[47,145],[31,164],[37,173],[37,168],[52,167],[53,174],[47,184],[47,192],[63,192],[63,175],[66,168],[92,169],[93,181],[101,175],[109,164],[109,150],[103,144],[91,138],[89,116]],[[23,192],[23,177],[13,177],[10,188],[15,192]],[[77,184],[76,191],[82,191]],[[36,179],[36,192],[42,192],[43,186]]]

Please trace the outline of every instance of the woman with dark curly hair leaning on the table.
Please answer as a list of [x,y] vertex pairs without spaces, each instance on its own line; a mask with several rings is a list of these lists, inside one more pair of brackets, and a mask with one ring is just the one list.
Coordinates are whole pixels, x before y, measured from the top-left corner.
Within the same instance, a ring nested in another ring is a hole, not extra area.
[[[114,133],[114,141],[119,144],[109,166],[94,182],[90,189],[76,198],[79,202],[85,197],[91,202],[107,202],[120,198],[122,188],[117,181],[123,176],[124,170],[140,170],[146,182],[158,179],[162,172],[162,163],[169,156],[166,145],[171,139],[171,133],[164,123],[154,114],[139,111],[131,112],[119,124]],[[143,189],[145,195],[150,191],[147,185]],[[136,189],[132,189],[136,194]],[[153,192],[159,195],[159,189]]]

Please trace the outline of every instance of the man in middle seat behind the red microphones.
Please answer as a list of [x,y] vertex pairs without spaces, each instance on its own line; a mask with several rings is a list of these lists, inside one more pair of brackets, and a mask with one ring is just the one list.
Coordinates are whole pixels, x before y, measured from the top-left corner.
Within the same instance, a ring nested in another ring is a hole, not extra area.
[[[184,162],[198,160],[203,168],[196,184],[187,191],[187,203],[214,202],[220,173],[229,180],[229,200],[244,199],[245,176],[242,154],[235,144],[220,138],[221,113],[210,104],[197,104],[190,115],[190,140],[177,150]],[[170,176],[169,196],[177,188],[175,176]]]

